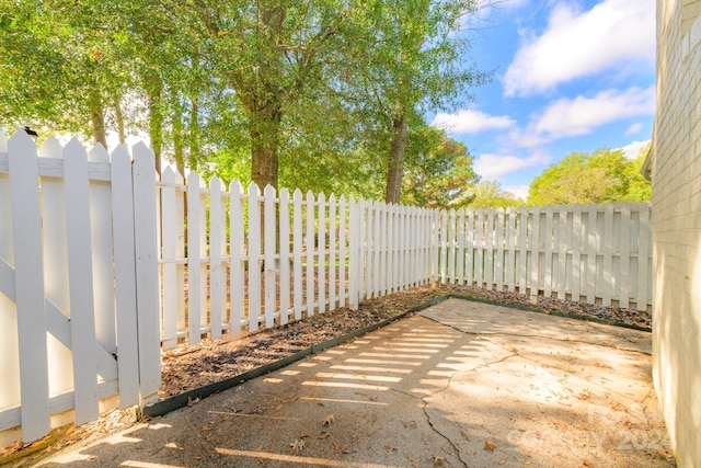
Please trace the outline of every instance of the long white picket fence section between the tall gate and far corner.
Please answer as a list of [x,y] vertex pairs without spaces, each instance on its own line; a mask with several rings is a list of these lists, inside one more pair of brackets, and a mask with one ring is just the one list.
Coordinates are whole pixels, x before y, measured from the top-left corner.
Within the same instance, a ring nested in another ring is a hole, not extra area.
[[433,277],[429,209],[271,186],[262,195],[237,181],[225,190],[216,176],[206,189],[171,168],[158,185],[165,349],[356,308]]

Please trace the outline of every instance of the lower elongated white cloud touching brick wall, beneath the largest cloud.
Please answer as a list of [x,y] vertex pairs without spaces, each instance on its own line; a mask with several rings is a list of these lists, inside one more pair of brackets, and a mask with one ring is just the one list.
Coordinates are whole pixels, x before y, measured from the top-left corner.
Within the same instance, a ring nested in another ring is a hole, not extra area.
[[561,99],[550,104],[535,129],[551,138],[586,135],[594,128],[621,118],[655,113],[655,89],[631,88],[601,91],[594,98]]

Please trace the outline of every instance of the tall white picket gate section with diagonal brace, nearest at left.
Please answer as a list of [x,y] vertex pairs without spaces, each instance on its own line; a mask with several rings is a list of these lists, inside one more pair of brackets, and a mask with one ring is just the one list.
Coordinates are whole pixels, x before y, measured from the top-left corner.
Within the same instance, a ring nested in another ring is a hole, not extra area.
[[160,387],[153,155],[134,156],[0,132],[0,432],[32,442]]

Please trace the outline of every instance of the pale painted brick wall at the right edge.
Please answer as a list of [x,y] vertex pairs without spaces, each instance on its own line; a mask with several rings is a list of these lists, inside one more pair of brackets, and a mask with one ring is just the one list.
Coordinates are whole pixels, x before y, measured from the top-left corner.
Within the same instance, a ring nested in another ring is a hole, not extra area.
[[653,377],[680,466],[701,466],[701,0],[657,0]]

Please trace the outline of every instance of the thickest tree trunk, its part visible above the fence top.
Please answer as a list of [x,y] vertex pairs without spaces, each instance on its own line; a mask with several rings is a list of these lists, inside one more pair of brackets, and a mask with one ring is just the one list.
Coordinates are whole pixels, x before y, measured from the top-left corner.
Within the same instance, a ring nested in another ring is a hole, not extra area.
[[251,180],[261,189],[277,190],[281,112],[276,100],[251,114]]

